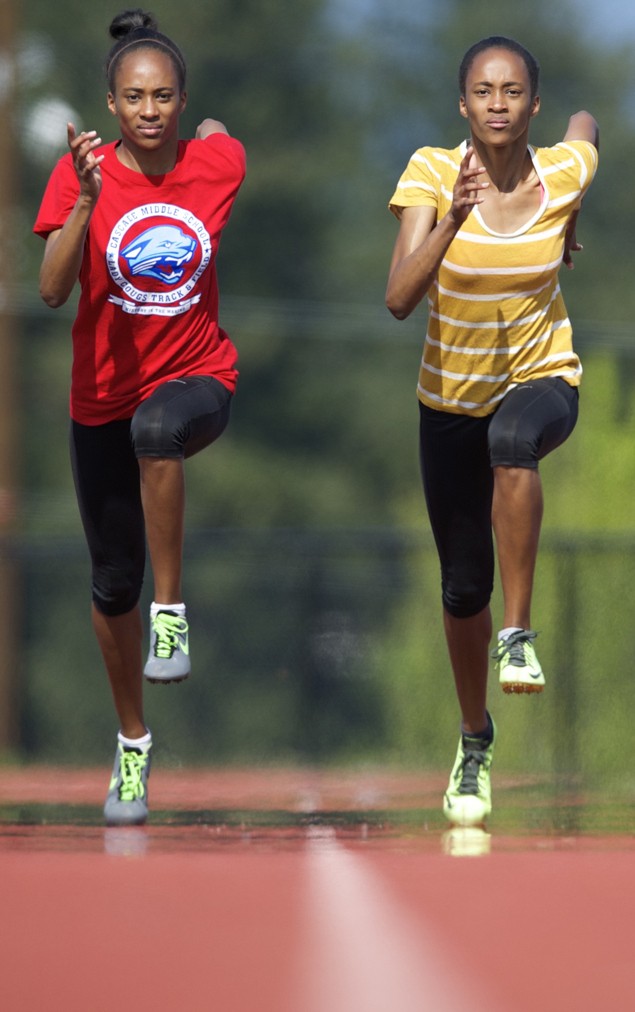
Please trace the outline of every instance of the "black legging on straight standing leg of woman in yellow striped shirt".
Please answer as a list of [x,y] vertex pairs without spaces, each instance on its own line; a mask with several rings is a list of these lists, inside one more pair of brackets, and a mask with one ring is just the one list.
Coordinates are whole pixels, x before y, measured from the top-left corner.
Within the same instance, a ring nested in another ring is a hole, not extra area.
[[420,405],[421,468],[441,561],[443,599],[457,617],[486,606],[493,584],[487,454],[490,418],[452,415]]

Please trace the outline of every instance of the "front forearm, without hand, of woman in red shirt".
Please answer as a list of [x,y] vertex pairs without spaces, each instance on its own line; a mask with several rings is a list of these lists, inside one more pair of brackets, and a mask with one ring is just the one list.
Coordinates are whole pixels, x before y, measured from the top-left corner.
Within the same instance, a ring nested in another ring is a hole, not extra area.
[[94,206],[90,197],[80,195],[60,234],[47,244],[39,271],[39,293],[52,309],[66,303],[79,277]]

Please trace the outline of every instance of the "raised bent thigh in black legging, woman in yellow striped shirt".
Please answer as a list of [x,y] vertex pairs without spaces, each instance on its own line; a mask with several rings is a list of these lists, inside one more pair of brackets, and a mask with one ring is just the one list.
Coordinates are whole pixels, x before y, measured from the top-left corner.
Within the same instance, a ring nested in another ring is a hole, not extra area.
[[573,431],[577,401],[577,388],[559,376],[511,390],[489,426],[491,467],[537,468]]

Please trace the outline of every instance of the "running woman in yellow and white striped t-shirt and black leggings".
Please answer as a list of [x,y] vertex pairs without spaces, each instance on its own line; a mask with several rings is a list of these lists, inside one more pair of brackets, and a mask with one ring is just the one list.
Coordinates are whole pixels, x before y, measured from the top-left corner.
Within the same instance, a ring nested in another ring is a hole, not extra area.
[[390,209],[401,226],[386,305],[399,320],[428,296],[418,385],[421,462],[441,561],[444,624],[462,712],[444,812],[481,823],[491,811],[495,727],[485,709],[492,523],[505,598],[493,651],[507,692],[536,692],[530,605],[542,520],[538,461],[577,419],[581,366],[558,269],[569,267],[575,221],[598,162],[588,112],[553,148],[528,144],[538,65],[513,39],[467,51],[460,112],[470,139],[422,148]]

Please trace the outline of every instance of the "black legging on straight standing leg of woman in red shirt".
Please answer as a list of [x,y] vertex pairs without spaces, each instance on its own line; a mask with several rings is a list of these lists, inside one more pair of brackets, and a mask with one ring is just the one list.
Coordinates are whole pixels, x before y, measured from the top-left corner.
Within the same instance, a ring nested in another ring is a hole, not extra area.
[[134,606],[146,561],[139,463],[130,420],[105,425],[71,422],[71,465],[93,567],[100,610],[119,614]]

